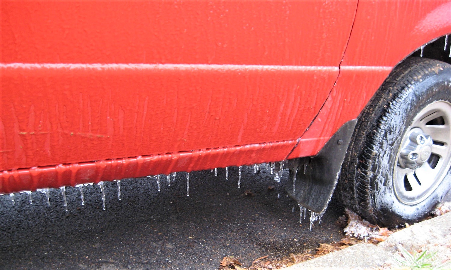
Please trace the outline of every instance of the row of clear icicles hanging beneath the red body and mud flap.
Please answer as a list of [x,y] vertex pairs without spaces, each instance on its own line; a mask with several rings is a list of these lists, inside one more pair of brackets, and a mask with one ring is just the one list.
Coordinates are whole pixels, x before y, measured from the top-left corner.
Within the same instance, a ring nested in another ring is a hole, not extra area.
[[[258,171],[260,171],[260,167],[262,164],[254,164],[253,165],[253,171],[254,173],[257,173]],[[277,183],[281,182],[281,178],[283,176],[283,170],[284,170],[284,162],[279,162],[279,166],[280,166],[280,170],[279,171],[275,171],[276,170],[276,162],[270,162],[269,164],[266,164],[266,169],[269,170],[271,172],[272,175],[274,175],[274,180]],[[238,188],[241,188],[241,172],[242,172],[242,167],[243,166],[239,166],[238,167]],[[295,193],[295,185],[296,185],[296,175],[297,175],[297,171],[298,171],[298,167],[294,167],[294,176],[293,176],[293,193]],[[304,174],[306,173],[307,170],[307,164],[304,164]],[[225,167],[226,170],[226,180],[229,180],[229,167]],[[212,172],[214,171],[215,176],[218,176],[218,168],[212,169]],[[171,181],[175,181],[176,179],[176,173],[173,172],[169,175],[165,175],[166,176],[166,181],[168,186],[170,186],[170,182]],[[154,178],[156,180],[156,184],[157,184],[157,190],[158,192],[160,192],[160,181],[161,181],[161,175],[148,175],[146,176],[146,178]],[[118,200],[120,200],[120,180],[114,180],[117,184],[117,196],[118,196]],[[83,193],[83,187],[87,186],[87,185],[93,185],[94,183],[86,183],[86,184],[77,184],[75,185],[76,188],[79,189],[80,191],[80,198],[81,198],[81,204],[84,205],[84,193]],[[99,186],[100,190],[101,190],[101,198],[102,198],[102,209],[106,210],[106,203],[105,203],[105,189],[104,189],[104,182],[101,181],[99,183],[97,183],[97,185]],[[68,211],[67,208],[67,199],[66,199],[66,187],[62,186],[60,187],[61,190],[61,194],[63,196],[63,206],[65,211]],[[47,205],[50,205],[50,197],[49,197],[49,189],[37,189],[37,192],[41,192],[46,194],[46,201],[47,201]],[[28,202],[30,204],[33,203],[32,201],[32,192],[31,191],[21,191],[20,193],[27,193],[28,194]],[[189,172],[186,172],[186,195],[189,196]],[[2,194],[3,195],[3,194]],[[15,204],[14,202],[14,193],[10,193],[9,194],[10,199],[12,204]],[[280,193],[277,194],[277,198],[280,197]],[[288,195],[286,195],[286,197],[288,198]],[[302,221],[302,217],[306,217],[306,208],[302,207],[301,205],[299,205],[299,223],[301,223]],[[294,211],[294,207],[293,207],[293,211]],[[310,211],[310,210],[309,210]],[[312,225],[313,222],[315,220],[318,220],[318,223],[321,224],[321,217],[322,217],[322,213],[315,213],[310,211],[310,230],[312,229]]]

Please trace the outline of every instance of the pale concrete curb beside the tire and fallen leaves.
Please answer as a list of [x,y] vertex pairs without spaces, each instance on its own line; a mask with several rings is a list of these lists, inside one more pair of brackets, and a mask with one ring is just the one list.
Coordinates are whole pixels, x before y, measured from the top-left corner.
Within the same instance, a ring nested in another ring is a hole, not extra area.
[[451,239],[450,225],[451,212],[397,231],[391,234],[386,241],[377,245],[359,243],[310,261],[295,264],[286,269],[367,269],[380,267],[394,257],[400,245],[407,250],[418,250],[424,247],[435,250],[444,247],[449,253],[440,252],[440,255],[442,258],[443,256],[450,258],[451,250],[447,246]]

